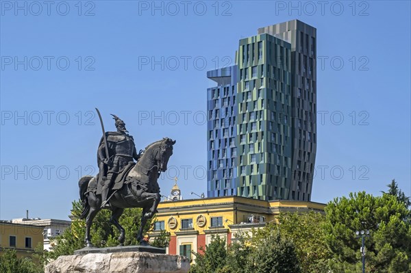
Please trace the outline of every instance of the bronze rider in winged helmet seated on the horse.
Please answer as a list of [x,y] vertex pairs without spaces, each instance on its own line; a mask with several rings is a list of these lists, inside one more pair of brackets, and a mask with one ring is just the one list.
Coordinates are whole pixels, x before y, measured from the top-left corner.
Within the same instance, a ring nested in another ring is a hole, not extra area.
[[136,151],[134,144],[134,138],[128,134],[125,129],[125,122],[118,116],[114,116],[116,122],[115,132],[105,132],[105,138],[107,140],[108,153],[105,149],[105,142],[101,138],[99,149],[97,152],[97,160],[99,164],[99,179],[97,188],[101,189],[101,207],[105,207],[107,204],[108,192],[112,187],[117,175],[129,164],[134,162],[133,159],[140,158],[140,154]]

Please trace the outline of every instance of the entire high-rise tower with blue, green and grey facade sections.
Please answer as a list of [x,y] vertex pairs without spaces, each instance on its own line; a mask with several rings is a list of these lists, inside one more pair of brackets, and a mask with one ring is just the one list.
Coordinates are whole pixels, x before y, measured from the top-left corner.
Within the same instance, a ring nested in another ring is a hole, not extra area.
[[208,196],[310,200],[316,155],[316,29],[294,20],[239,41],[208,71]]

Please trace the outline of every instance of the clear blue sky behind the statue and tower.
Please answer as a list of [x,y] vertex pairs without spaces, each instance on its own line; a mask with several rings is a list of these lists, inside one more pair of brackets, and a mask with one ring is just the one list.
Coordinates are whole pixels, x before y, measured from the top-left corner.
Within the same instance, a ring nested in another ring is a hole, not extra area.
[[97,173],[116,114],[138,149],[177,140],[168,195],[206,193],[206,71],[238,40],[295,18],[317,29],[312,201],[410,177],[409,1],[1,1],[0,219],[67,219],[77,181]]

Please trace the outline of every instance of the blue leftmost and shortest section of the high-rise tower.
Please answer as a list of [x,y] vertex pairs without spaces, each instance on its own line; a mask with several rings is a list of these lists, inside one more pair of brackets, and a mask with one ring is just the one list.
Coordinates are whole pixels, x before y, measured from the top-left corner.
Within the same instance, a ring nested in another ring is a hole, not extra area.
[[208,71],[207,196],[237,195],[237,66]]

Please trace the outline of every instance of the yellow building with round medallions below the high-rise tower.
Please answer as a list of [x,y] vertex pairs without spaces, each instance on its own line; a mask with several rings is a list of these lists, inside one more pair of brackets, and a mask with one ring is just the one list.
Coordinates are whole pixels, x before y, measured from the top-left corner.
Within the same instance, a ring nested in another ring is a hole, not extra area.
[[158,205],[151,238],[162,230],[171,233],[167,253],[191,256],[191,250],[210,243],[213,234],[224,236],[231,244],[238,232],[275,221],[281,212],[324,211],[325,204],[295,200],[256,200],[240,196],[223,196],[190,200],[170,200]]

